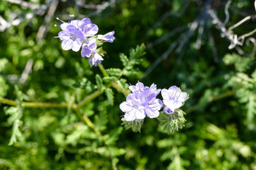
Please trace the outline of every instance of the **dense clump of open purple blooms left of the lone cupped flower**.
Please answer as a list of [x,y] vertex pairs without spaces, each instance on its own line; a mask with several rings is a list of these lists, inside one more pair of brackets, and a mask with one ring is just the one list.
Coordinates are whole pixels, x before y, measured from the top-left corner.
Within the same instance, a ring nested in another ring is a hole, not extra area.
[[142,120],[147,115],[149,118],[159,117],[163,103],[156,99],[161,89],[156,89],[156,85],[152,84],[149,87],[144,87],[143,83],[131,85],[129,89],[132,94],[129,94],[120,104],[120,109],[125,112],[124,118],[126,121]]

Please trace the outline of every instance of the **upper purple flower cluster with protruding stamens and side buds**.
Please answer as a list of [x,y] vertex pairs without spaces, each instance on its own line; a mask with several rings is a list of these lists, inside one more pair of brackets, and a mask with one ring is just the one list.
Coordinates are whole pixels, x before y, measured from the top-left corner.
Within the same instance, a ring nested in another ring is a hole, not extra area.
[[[72,17],[72,16],[71,16]],[[60,18],[57,18],[60,20]],[[63,22],[62,20],[60,20]],[[63,50],[72,49],[78,52],[80,48],[81,56],[88,57],[90,66],[97,66],[103,58],[100,55],[102,49],[97,47],[102,45],[102,42],[113,43],[115,31],[108,32],[105,35],[96,35],[99,27],[92,24],[90,18],[83,18],[83,20],[71,20],[70,22],[63,22],[60,26],[62,31],[59,32],[56,38],[60,38]]]

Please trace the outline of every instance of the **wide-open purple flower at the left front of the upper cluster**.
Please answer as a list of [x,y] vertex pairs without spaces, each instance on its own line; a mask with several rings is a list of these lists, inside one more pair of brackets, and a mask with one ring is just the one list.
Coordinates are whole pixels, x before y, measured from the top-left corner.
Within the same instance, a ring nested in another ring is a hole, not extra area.
[[67,25],[65,30],[60,31],[58,37],[62,40],[61,47],[63,50],[72,49],[78,52],[84,39],[83,32],[79,31],[74,25]]

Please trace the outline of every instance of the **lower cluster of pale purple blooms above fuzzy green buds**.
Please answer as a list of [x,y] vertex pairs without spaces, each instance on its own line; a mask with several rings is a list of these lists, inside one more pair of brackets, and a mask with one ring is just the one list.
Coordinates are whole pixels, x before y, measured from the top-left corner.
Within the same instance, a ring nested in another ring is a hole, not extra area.
[[[149,118],[159,117],[159,110],[164,106],[164,113],[172,114],[180,108],[187,99],[186,92],[180,92],[176,86],[167,89],[157,89],[154,83],[150,86],[144,86],[138,82],[136,85],[131,85],[129,89],[132,91],[126,97],[126,101],[120,104],[120,110],[125,115],[126,121],[143,120],[146,115]],[[163,101],[157,99],[157,95],[161,92]]]

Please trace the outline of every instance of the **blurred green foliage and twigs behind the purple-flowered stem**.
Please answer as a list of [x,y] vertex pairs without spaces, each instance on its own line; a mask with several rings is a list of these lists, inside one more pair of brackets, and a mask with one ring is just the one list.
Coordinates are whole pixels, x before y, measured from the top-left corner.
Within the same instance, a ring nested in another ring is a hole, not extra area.
[[[140,133],[125,131],[119,109],[124,95],[113,90],[113,106],[106,96],[97,97],[82,114],[108,146],[70,108],[24,108],[17,118],[19,107],[1,103],[0,169],[256,169],[255,34],[228,49],[230,39],[223,34],[228,30],[221,32],[209,11],[227,29],[250,16],[228,32],[238,37],[255,29],[256,13],[251,0],[229,3],[0,1],[0,98],[17,99],[15,85],[26,102],[77,103],[95,90],[72,85],[85,78],[95,84],[99,67],[91,68],[80,52],[62,50],[54,38],[60,31],[54,24],[61,24],[55,18],[68,21],[70,14],[90,17],[99,34],[115,31],[115,41],[103,45],[105,68],[122,68],[120,53],[129,55],[130,48],[144,43],[140,72],[125,77],[127,83],[177,85],[190,97],[182,107],[186,125],[174,134],[150,118]],[[31,69],[22,78],[26,66]],[[8,145],[13,120],[19,120],[21,134]]]

